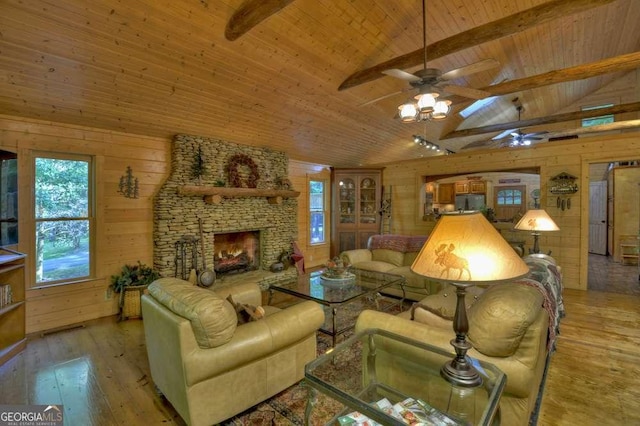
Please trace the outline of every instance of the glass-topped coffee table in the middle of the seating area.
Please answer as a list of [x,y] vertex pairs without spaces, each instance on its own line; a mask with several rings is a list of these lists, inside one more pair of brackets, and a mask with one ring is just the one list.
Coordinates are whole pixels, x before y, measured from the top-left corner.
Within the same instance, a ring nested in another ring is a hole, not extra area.
[[380,310],[380,291],[390,286],[399,286],[403,294],[401,299],[393,300],[394,303],[390,306],[401,306],[404,302],[406,280],[400,275],[350,269],[350,275],[344,279],[334,279],[324,276],[324,272],[318,270],[299,275],[295,280],[271,284],[268,303],[271,304],[274,292],[281,292],[326,306],[330,318],[319,331],[332,337],[332,347],[336,345],[337,336],[355,325],[359,311],[349,312],[347,309],[352,302],[369,298],[375,303],[376,309]]

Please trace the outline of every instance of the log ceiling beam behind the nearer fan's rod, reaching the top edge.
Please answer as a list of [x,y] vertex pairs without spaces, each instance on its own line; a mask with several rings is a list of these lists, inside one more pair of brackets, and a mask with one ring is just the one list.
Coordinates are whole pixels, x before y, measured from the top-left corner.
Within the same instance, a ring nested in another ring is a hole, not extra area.
[[[479,27],[463,31],[451,37],[439,40],[427,46],[428,59],[433,60],[446,55],[497,40],[545,22],[584,12],[596,6],[602,6],[615,0],[553,0],[522,12],[514,13],[502,19],[489,22]],[[369,81],[384,77],[383,71],[389,69],[405,69],[420,65],[424,60],[424,49],[414,50],[397,58],[390,59],[371,68],[351,74],[338,90],[345,90]]]

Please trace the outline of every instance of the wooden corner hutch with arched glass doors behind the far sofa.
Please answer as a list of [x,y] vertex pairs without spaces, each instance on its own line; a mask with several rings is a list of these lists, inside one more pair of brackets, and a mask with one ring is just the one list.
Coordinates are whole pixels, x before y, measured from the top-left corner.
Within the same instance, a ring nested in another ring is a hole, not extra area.
[[382,169],[333,169],[331,256],[366,248],[380,233]]

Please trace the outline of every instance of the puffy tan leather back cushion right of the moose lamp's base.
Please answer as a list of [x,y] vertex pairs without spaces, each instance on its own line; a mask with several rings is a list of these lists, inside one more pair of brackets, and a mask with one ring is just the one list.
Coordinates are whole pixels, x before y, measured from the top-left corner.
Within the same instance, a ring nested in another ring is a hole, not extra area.
[[469,341],[487,356],[513,355],[538,317],[543,300],[538,289],[527,285],[489,287],[468,311]]

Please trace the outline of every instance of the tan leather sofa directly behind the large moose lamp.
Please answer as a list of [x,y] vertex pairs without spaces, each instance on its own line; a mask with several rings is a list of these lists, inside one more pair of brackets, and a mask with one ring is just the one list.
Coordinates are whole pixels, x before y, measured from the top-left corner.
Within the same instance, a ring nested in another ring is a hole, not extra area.
[[[455,304],[455,290],[443,297],[446,291],[439,296]],[[489,287],[468,309],[468,340],[474,345],[468,355],[495,365],[507,376],[500,400],[504,425],[528,425],[536,407],[548,353],[549,315],[542,304],[543,296],[535,287],[509,283]],[[367,328],[387,330],[453,352],[452,322],[422,308],[416,309],[414,320],[410,312],[393,316],[364,311],[356,331]],[[394,375],[411,378],[405,371],[394,371]]]

